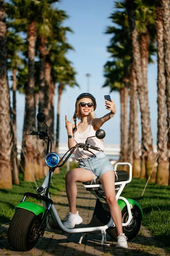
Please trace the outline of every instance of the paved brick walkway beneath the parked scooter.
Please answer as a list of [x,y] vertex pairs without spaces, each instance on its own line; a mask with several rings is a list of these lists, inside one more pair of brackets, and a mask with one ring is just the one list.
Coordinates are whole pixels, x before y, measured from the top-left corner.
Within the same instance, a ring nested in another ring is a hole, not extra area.
[[[78,183],[77,209],[83,218],[83,224],[88,224],[92,218],[95,206],[94,196]],[[52,195],[51,195],[52,196]],[[65,192],[61,192],[59,196],[52,196],[55,206],[61,219],[64,219],[68,212],[68,201]],[[166,256],[165,251],[159,247],[159,243],[155,241],[149,232],[141,227],[136,238],[128,242],[128,249],[116,249],[116,242],[107,235],[107,243],[110,246],[101,246],[101,235],[88,235],[82,240],[82,244],[78,244],[81,234],[54,234],[45,231],[43,237],[40,237],[37,245],[29,252],[17,252],[8,244],[7,233],[8,224],[0,227],[0,234],[5,233],[6,236],[0,240],[0,256]]]

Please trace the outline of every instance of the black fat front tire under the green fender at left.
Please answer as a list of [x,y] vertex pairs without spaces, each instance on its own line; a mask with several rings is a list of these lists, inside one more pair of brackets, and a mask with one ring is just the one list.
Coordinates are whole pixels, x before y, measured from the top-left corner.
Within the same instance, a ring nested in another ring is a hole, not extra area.
[[41,216],[18,208],[9,224],[8,242],[17,251],[29,251],[40,237],[34,237],[40,227]]

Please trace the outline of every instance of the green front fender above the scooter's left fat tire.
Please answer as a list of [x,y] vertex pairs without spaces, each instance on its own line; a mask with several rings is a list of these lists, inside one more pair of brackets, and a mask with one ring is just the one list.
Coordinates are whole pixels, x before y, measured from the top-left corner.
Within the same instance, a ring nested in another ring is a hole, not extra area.
[[42,216],[44,215],[45,209],[40,206],[39,204],[34,204],[31,202],[20,202],[19,204],[17,204],[17,206],[15,208],[23,208],[26,209],[30,212],[33,212],[35,215],[39,215],[40,213],[42,213]]

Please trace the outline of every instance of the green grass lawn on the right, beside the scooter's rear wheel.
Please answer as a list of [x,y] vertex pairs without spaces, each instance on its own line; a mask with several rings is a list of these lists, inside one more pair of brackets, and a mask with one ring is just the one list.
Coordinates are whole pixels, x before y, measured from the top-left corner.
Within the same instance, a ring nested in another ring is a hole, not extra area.
[[148,184],[141,197],[146,180],[133,179],[122,196],[136,200],[144,212],[142,224],[170,253],[170,186]]

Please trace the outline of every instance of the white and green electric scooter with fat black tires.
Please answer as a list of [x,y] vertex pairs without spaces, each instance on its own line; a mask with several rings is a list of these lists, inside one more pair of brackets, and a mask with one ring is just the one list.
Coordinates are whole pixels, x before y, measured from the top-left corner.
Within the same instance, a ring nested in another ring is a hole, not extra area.
[[[43,113],[37,114],[37,120],[39,122],[44,122],[46,125]],[[76,225],[73,229],[68,229],[62,224],[49,192],[51,176],[53,175],[54,170],[57,167],[62,167],[76,148],[83,148],[89,152],[91,152],[91,149],[101,151],[100,148],[89,145],[87,138],[85,143],[78,143],[70,148],[60,159],[57,153],[52,152],[52,142],[48,135],[47,125],[45,131],[30,131],[28,135],[38,135],[40,140],[43,140],[43,145],[47,140],[45,163],[49,167],[49,171],[42,186],[37,187],[37,194],[26,192],[22,201],[15,207],[16,212],[13,215],[8,230],[9,244],[17,251],[29,251],[37,244],[40,236],[43,236],[45,228],[48,228],[48,230],[54,233],[83,233],[80,237],[79,244],[81,244],[83,237],[89,233],[100,233],[102,236],[102,245],[104,244],[104,241],[106,241],[106,233],[108,233],[112,239],[117,240],[118,235],[116,227],[111,218],[110,209],[105,198],[105,192],[99,179],[83,183],[85,189],[96,197],[96,206],[90,223],[87,225]],[[96,131],[95,136],[98,139],[103,139],[105,137],[105,131],[99,129]],[[91,152],[91,154],[94,153]],[[129,166],[129,172],[117,171],[117,166],[119,165]],[[114,170],[118,174],[118,179],[115,178],[115,190],[117,192],[116,200],[118,201],[122,212],[123,232],[125,233],[125,236],[127,236],[127,241],[129,241],[139,232],[141,221],[143,219],[143,212],[136,201],[120,196],[124,187],[132,180],[131,164],[116,163]],[[43,207],[39,204],[26,201],[27,198],[39,199],[43,202]]]

